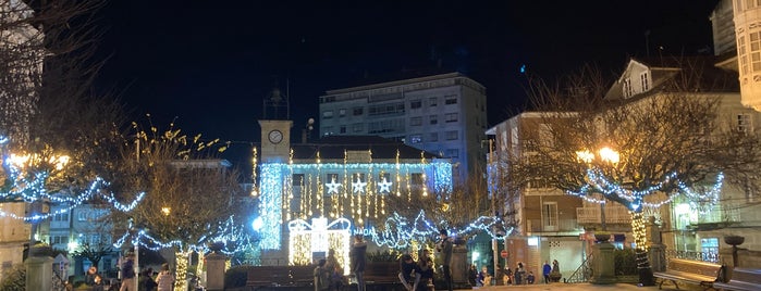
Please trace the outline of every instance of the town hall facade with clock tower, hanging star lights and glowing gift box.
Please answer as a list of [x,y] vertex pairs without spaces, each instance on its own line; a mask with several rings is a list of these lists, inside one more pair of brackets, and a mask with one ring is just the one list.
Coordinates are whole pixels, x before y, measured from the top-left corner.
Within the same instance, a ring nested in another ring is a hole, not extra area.
[[404,204],[413,197],[435,203],[452,191],[452,163],[434,154],[376,136],[292,144],[291,121],[259,124],[255,194],[263,265],[311,263],[328,249],[343,262],[349,233],[369,236],[396,207],[414,207]]

